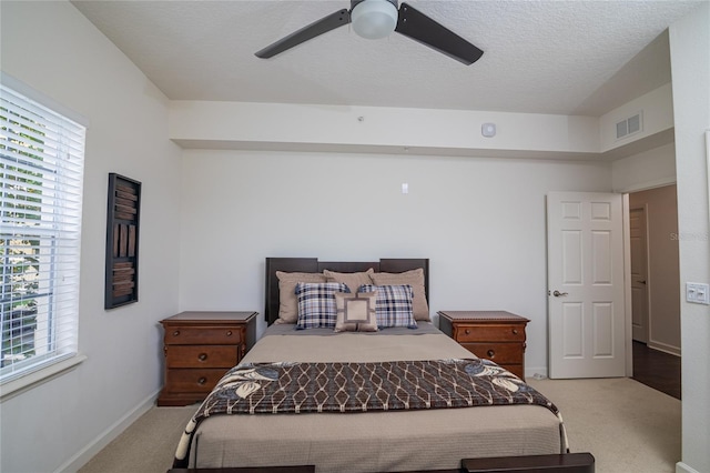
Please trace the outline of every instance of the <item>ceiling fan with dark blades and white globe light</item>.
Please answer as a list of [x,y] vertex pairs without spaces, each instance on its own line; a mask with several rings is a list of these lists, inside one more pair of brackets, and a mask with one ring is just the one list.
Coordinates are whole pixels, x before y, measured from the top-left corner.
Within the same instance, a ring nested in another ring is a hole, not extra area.
[[257,51],[257,58],[272,58],[287,49],[334,30],[353,24],[355,32],[368,39],[381,39],[393,31],[433,48],[466,66],[483,51],[464,38],[407,3],[397,10],[397,0],[351,0],[351,9],[338,10]]

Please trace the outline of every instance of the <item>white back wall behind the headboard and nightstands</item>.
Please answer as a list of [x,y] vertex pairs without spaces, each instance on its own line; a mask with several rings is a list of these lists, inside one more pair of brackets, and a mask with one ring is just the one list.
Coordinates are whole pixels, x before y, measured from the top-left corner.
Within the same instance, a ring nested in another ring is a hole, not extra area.
[[608,163],[204,150],[182,174],[182,310],[263,313],[266,256],[425,256],[433,314],[531,320],[529,374],[547,372],[545,195],[611,183]]

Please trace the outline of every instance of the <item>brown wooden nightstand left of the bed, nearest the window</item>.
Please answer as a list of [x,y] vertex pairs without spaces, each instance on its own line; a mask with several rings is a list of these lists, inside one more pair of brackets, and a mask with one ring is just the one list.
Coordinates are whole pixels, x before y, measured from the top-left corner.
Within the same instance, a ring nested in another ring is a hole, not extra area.
[[158,405],[202,401],[254,345],[256,312],[181,312],[165,331],[165,385]]

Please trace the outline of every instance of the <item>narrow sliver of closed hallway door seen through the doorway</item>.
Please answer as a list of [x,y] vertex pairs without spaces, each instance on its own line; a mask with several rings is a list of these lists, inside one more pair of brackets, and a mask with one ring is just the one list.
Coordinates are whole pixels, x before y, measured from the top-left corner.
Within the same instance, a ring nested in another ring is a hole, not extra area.
[[646,210],[629,212],[631,248],[631,338],[648,343],[648,258]]

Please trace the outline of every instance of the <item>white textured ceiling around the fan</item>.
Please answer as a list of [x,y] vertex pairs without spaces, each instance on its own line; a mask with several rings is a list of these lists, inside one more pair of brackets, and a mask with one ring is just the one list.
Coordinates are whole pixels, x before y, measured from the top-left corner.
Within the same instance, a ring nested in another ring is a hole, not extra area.
[[670,81],[666,29],[702,1],[409,1],[473,66],[342,27],[254,52],[349,1],[73,1],[170,99],[601,115]]

